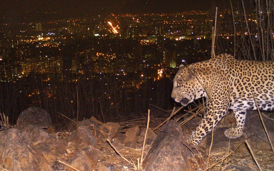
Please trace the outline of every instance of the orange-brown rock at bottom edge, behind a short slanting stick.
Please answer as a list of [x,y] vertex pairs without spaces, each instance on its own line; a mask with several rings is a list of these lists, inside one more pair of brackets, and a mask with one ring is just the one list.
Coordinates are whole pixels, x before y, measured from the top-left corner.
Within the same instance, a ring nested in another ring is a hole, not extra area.
[[92,145],[76,152],[69,161],[69,164],[79,170],[91,171],[97,164],[100,151]]

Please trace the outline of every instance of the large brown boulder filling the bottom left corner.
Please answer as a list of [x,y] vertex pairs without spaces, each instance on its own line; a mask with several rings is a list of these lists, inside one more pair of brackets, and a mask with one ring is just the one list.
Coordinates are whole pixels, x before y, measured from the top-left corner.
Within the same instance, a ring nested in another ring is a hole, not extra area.
[[[1,131],[0,163],[7,170],[53,171],[44,156],[16,128]],[[5,135],[5,136],[3,136]]]

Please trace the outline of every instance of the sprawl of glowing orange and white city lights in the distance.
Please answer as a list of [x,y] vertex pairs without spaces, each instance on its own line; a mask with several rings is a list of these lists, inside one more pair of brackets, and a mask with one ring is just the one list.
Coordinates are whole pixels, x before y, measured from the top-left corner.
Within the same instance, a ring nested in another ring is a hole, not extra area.
[[[225,15],[225,12],[219,13],[221,17]],[[6,39],[0,46],[1,70],[4,70],[0,75],[1,81],[25,78],[31,72],[60,75],[64,72],[81,75],[92,72],[102,76],[111,73],[121,77],[136,71],[142,71],[142,74],[139,72],[142,80],[158,80],[165,77],[158,62],[163,62],[164,68],[175,68],[181,62],[192,59],[188,59],[191,54],[208,52],[208,49],[183,47],[182,43],[211,39],[213,20],[209,12],[111,14],[107,18],[100,17],[20,24],[18,34],[5,34]],[[231,39],[233,30],[223,29],[227,22],[221,22],[218,36]],[[249,18],[248,22],[256,20]],[[121,23],[126,25],[120,28]],[[236,32],[245,36],[248,36],[247,33],[247,30]],[[258,38],[257,34],[254,36]],[[90,44],[83,46],[82,41]],[[80,42],[77,47],[73,47],[75,42]],[[8,62],[11,49],[17,58],[14,66],[13,62]],[[65,60],[70,66],[65,67]],[[49,82],[47,79],[43,81]]]

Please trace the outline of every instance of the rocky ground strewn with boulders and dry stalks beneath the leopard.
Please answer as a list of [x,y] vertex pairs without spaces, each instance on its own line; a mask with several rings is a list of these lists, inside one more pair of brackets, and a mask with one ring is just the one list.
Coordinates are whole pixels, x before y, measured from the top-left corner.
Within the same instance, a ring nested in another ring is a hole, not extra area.
[[[197,108],[172,120],[171,112],[156,110],[146,133],[147,115],[119,123],[92,117],[53,125],[47,111],[30,107],[15,126],[0,131],[0,170],[274,170],[273,151],[257,111],[249,111],[244,136],[231,140],[224,136],[224,130],[235,124],[230,113],[214,129],[212,144],[210,133],[193,147],[186,139],[203,113],[202,107]],[[273,142],[274,121],[265,115],[263,121]]]

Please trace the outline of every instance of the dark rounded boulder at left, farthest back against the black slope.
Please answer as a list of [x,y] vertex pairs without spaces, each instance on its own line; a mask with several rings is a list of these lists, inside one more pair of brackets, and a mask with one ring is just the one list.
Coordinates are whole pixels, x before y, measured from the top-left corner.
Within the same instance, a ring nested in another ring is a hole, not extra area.
[[17,125],[23,123],[41,127],[50,127],[52,125],[50,114],[40,107],[29,107],[24,110],[17,119]]

